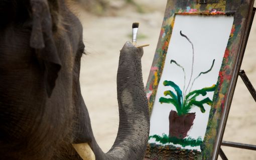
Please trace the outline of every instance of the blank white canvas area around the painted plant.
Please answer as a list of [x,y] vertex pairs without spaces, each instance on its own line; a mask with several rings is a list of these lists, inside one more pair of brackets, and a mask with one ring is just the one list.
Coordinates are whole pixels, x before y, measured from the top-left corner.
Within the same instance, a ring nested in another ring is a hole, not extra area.
[[[192,81],[200,72],[209,69],[213,59],[215,59],[212,70],[207,74],[202,74],[194,82],[193,87],[191,88],[192,91],[203,87],[209,87],[217,83],[232,24],[233,16],[176,15],[162,77],[158,85],[151,114],[150,135],[162,135],[163,133],[168,135],[169,113],[171,110],[176,110],[175,106],[171,103],[161,104],[159,102],[160,97],[164,96],[164,91],[174,91],[172,87],[164,86],[163,82],[165,80],[171,80],[179,85],[183,91],[184,73],[182,68],[174,63],[170,63],[171,59],[177,61],[177,63],[184,67],[186,72],[186,85],[189,83],[192,65],[192,46],[185,37],[181,36],[180,31],[182,31],[182,33],[194,44],[194,69]],[[208,92],[206,96],[212,100],[213,91]],[[198,96],[197,99],[202,99],[202,96]],[[194,106],[190,110],[190,112],[196,113],[194,124],[188,132],[188,136],[191,138],[197,139],[199,136],[201,136],[202,139],[204,138],[209,118],[210,105],[204,104],[204,108],[206,110],[204,113],[202,113],[197,106]],[[149,142],[152,143],[156,141],[154,138],[151,138]],[[159,142],[156,143],[160,144]],[[173,145],[180,146],[181,148],[200,150],[200,146],[182,147],[179,144]]]

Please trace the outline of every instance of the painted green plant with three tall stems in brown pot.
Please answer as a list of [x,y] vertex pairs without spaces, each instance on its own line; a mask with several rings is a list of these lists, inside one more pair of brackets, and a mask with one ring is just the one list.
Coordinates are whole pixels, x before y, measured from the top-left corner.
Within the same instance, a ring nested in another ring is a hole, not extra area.
[[[209,69],[206,71],[200,72],[193,80],[193,73],[194,73],[194,45],[191,40],[180,31],[180,35],[185,37],[192,46],[192,66],[191,66],[191,74],[186,85],[186,72],[184,67],[179,64],[175,60],[171,60],[171,64],[174,63],[178,67],[182,68],[184,73],[184,86],[183,90],[178,86],[174,81],[165,80],[163,82],[164,86],[170,86],[173,89],[164,91],[165,97],[160,97],[159,102],[162,103],[172,103],[176,111],[171,110],[169,115],[169,136],[170,137],[177,137],[180,139],[184,139],[187,136],[189,129],[193,125],[193,121],[195,119],[195,113],[190,113],[192,107],[199,107],[201,112],[205,112],[204,104],[211,105],[212,100],[209,97],[205,97],[207,92],[211,92],[215,90],[215,84],[209,87],[203,87],[201,89],[192,90],[193,84],[202,74],[207,74],[210,72],[214,66],[215,59],[212,60],[212,64]],[[173,91],[172,91],[173,90]],[[199,97],[203,97],[202,99],[198,100]]]

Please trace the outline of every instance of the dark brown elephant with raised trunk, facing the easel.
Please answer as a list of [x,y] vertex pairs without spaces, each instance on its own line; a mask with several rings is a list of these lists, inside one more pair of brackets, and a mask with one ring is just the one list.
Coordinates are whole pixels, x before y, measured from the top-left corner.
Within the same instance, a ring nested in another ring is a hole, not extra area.
[[68,3],[0,0],[0,159],[143,159],[150,126],[143,49],[125,42],[120,50],[119,127],[104,153],[81,95],[83,28]]

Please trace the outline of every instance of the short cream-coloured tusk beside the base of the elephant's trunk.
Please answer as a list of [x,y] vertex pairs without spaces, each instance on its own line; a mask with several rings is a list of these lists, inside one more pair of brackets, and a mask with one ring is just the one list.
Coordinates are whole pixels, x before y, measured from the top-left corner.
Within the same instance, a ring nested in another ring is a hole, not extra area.
[[72,144],[83,160],[95,160],[95,155],[88,143]]

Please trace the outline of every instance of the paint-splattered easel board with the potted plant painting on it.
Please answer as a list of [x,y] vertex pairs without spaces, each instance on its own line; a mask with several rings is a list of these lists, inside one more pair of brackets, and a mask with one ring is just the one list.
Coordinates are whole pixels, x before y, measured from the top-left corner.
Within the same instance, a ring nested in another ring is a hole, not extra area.
[[254,0],[168,0],[146,93],[145,159],[216,159]]

